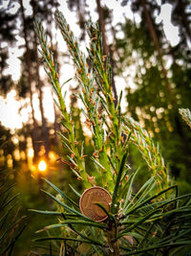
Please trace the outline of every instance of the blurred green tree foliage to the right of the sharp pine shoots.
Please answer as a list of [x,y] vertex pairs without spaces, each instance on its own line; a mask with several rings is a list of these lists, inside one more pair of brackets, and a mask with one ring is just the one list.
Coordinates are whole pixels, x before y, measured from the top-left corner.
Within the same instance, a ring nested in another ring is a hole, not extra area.
[[[189,184],[191,134],[179,116],[180,107],[191,107],[190,52],[185,39],[190,36],[185,30],[186,19],[189,19],[187,4],[169,1],[172,20],[180,31],[180,42],[173,47],[162,34],[162,22],[156,19],[162,5],[150,0],[123,1],[123,4],[127,2],[132,12],[140,17],[138,22],[127,18],[117,24],[116,29],[119,61],[116,61],[115,71],[127,84],[127,113],[151,131],[154,141],[159,142],[171,175]],[[182,15],[183,12],[187,15]],[[182,16],[184,22],[181,22]],[[120,36],[121,31],[123,36]],[[132,157],[133,166],[135,162]]]

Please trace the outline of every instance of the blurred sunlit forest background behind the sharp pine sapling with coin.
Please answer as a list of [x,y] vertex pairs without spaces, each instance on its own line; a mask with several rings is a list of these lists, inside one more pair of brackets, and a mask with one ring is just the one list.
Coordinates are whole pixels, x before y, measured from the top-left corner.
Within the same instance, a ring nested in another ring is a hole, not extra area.
[[[123,21],[118,21],[115,25],[114,10],[108,8],[106,1],[65,2],[80,28],[78,37],[82,45],[86,40],[85,24],[91,18],[91,5],[94,6],[102,33],[103,52],[104,55],[110,54],[112,61],[116,102],[121,89],[120,82],[125,81],[124,115],[132,116],[140,122],[142,128],[150,132],[159,143],[169,175],[180,184],[180,193],[190,192],[191,132],[181,120],[178,109],[191,109],[191,2],[111,0],[114,4],[117,2],[124,10],[129,7],[132,12],[131,18],[124,13]],[[171,13],[168,13],[171,25],[176,26],[179,31],[180,40],[175,45],[164,33],[164,21],[159,21],[159,13],[165,6],[171,10]],[[53,21],[53,12],[56,9],[64,11],[61,10],[58,0],[13,0],[7,7],[0,3],[0,95],[6,101],[8,94],[14,92],[15,101],[20,104],[18,119],[21,119],[25,109],[30,109],[22,128],[12,130],[0,124],[0,142],[5,142],[0,148],[0,168],[11,172],[9,179],[16,183],[12,193],[20,193],[20,214],[28,216],[27,230],[16,244],[18,254],[15,255],[25,255],[32,251],[31,240],[35,230],[39,228],[39,222],[48,221],[28,213],[29,208],[43,209],[45,205],[51,207],[51,202],[40,192],[45,186],[40,177],[51,178],[60,188],[65,187],[65,191],[69,183],[79,187],[63,160],[66,150],[62,149],[57,135],[60,126],[56,105],[52,106],[53,122],[45,115],[46,90],[49,88],[52,95],[53,92],[48,76],[45,76],[41,67],[42,59],[38,53],[38,42],[33,29],[33,19],[36,15],[48,24],[46,29],[52,39],[51,47],[54,57],[59,57],[58,70],[62,73],[65,66],[71,64],[71,60],[69,52],[63,51],[64,46],[61,49],[56,42],[58,35],[55,34]],[[70,23],[70,20],[68,22]],[[7,72],[12,47],[17,47],[22,52],[19,57],[21,72],[18,81],[13,81],[11,74]],[[71,68],[73,69],[73,66]],[[77,136],[85,141],[86,151],[92,151],[88,133],[82,125],[80,106],[73,97],[78,91],[77,84],[74,83],[70,91],[74,119],[78,124]],[[36,111],[40,119],[36,118]],[[144,161],[141,157],[138,158],[138,155],[138,151],[132,147],[129,161],[133,168],[141,168],[140,178],[146,178]],[[47,165],[44,172],[40,172],[38,165],[42,160]]]

